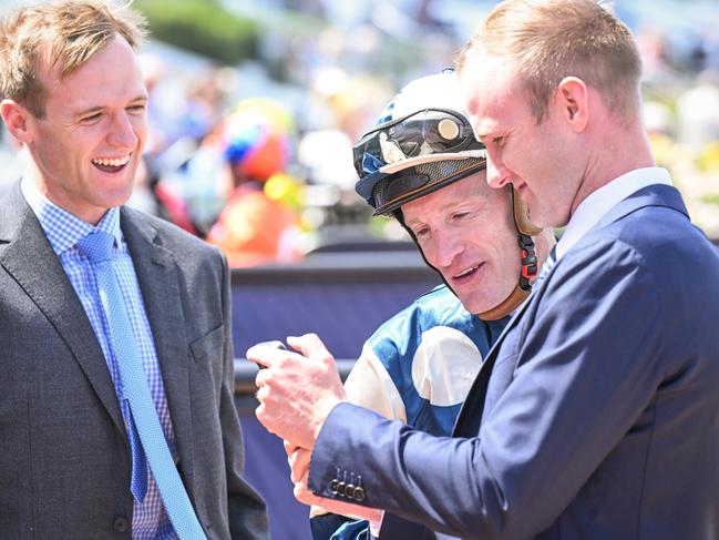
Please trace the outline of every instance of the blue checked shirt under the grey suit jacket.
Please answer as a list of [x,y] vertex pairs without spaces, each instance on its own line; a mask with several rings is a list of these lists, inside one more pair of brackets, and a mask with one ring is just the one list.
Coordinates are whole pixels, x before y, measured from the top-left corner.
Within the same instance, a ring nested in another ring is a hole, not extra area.
[[[90,234],[91,231],[100,230],[115,237],[113,246],[117,271],[117,279],[122,289],[125,304],[130,309],[130,322],[132,329],[137,339],[142,363],[147,375],[147,384],[152,394],[160,422],[165,432],[170,450],[176,458],[175,437],[170,420],[170,410],[167,408],[167,398],[165,387],[157,363],[157,351],[152,337],[147,314],[142,299],[140,284],[135,268],[130,256],[130,251],[125,244],[120,230],[120,210],[111,208],[105,213],[96,227],[65,212],[60,206],[50,202],[43,196],[32,177],[25,176],[22,180],[22,194],[28,204],[38,216],[52,249],[60,258],[60,263],[70,278],[70,283],[75,289],[78,297],[85,308],[92,329],[100,342],[102,351],[107,363],[107,369],[112,377],[115,391],[117,391],[117,381],[120,380],[117,364],[110,347],[110,329],[105,319],[100,299],[96,294],[95,275],[90,262],[78,251],[75,244],[78,241]],[[125,426],[130,417],[127,403],[120,400]],[[142,505],[133,498],[133,518],[132,518],[132,538],[134,540],[171,540],[176,538],[170,518],[160,498],[157,485],[151,473],[147,479],[147,493]],[[130,490],[130,485],[127,485]]]

